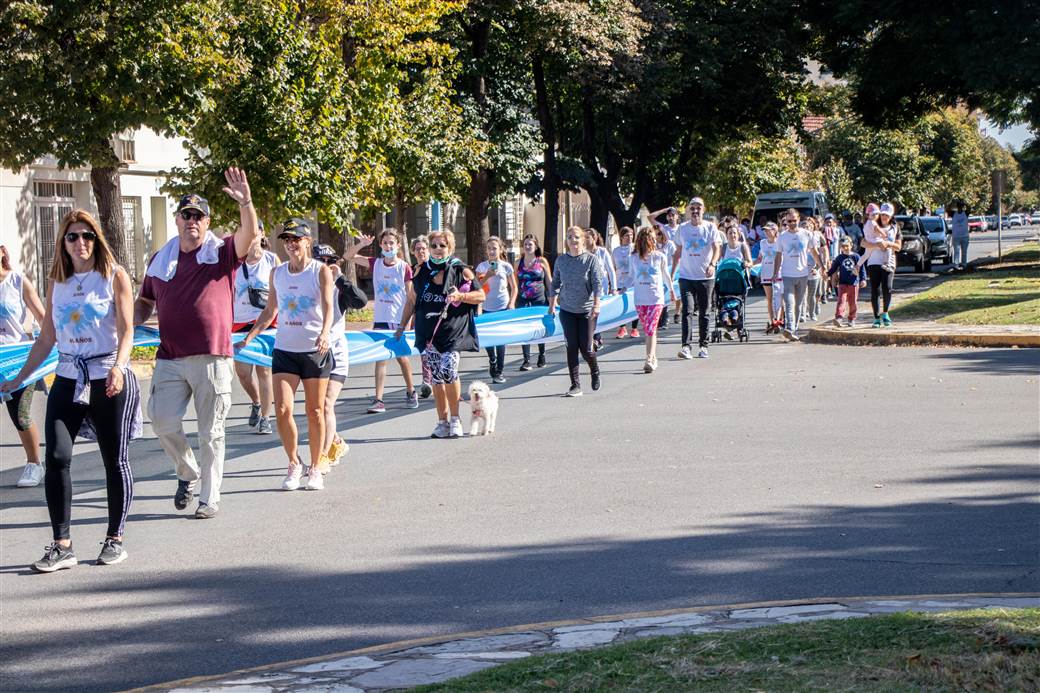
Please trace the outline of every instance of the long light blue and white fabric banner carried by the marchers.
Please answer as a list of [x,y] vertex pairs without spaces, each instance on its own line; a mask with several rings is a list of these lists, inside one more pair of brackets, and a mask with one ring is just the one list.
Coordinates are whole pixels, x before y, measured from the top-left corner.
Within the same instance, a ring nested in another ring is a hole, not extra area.
[[[626,293],[604,297],[600,301],[600,314],[597,330],[607,331],[620,325],[635,319],[635,303],[632,290]],[[250,344],[236,350],[235,359],[254,365],[270,366],[271,352],[275,349],[275,330],[260,334]],[[544,307],[517,308],[487,313],[476,318],[476,334],[480,346],[500,346],[509,344],[524,344],[563,341],[564,330],[560,318],[550,316]],[[231,340],[237,344],[243,339],[242,334],[233,334]],[[406,332],[400,339],[394,339],[392,332],[364,330],[348,330],[346,332],[348,360],[352,366],[363,363],[373,363],[400,356],[417,356],[415,351],[415,333]],[[157,346],[159,331],[155,328],[138,327],[134,330],[134,346]],[[10,380],[18,375],[32,348],[32,342],[20,342],[0,346],[0,377]],[[50,355],[36,370],[25,380],[29,385],[52,373],[57,365],[57,352]]]

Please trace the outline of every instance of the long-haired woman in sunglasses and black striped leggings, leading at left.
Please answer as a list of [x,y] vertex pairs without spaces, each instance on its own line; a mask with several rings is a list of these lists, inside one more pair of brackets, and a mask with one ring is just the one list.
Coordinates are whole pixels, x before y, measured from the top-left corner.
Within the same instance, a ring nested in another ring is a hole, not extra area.
[[[108,531],[98,563],[127,558],[123,531],[133,499],[128,447],[131,425],[139,421],[140,393],[129,368],[133,345],[133,294],[130,277],[115,264],[101,226],[82,209],[61,222],[60,248],[51,266],[47,313],[40,337],[21,371],[3,383],[12,392],[57,344],[58,364],[47,397],[44,435],[47,471],[44,487],[54,543],[32,564],[37,572],[76,565],[72,547],[73,442],[93,433],[105,465]],[[84,426],[85,425],[85,426]]]

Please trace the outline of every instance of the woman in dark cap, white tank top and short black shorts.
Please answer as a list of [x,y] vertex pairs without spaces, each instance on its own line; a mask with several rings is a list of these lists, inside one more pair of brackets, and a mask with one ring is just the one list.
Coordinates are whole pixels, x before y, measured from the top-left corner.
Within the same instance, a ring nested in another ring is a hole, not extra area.
[[289,220],[278,237],[285,246],[289,261],[271,273],[267,307],[260,313],[239,349],[253,341],[278,317],[270,369],[275,381],[278,434],[289,458],[282,488],[295,491],[304,476],[296,421],[292,415],[296,390],[303,383],[311,453],[306,488],[319,491],[324,488],[321,472],[329,466],[324,456],[324,408],[333,366],[329,352],[335,317],[333,278],[328,266],[311,257],[313,241],[307,222]]

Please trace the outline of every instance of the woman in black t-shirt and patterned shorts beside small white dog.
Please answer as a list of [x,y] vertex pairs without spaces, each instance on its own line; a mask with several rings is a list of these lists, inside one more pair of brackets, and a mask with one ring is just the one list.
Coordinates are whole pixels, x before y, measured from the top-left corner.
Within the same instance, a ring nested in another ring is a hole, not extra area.
[[480,351],[473,318],[485,296],[473,271],[452,257],[454,233],[441,229],[427,238],[430,259],[412,280],[414,291],[409,292],[394,337],[401,337],[405,326],[415,315],[415,349],[433,375],[437,405],[437,427],[431,437],[459,438],[459,352]]

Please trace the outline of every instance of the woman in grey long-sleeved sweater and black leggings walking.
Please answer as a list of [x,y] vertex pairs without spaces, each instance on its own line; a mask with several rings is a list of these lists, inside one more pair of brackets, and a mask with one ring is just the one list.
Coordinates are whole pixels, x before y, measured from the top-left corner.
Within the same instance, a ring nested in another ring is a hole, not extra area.
[[552,272],[552,294],[549,298],[549,314],[556,314],[560,304],[560,324],[567,340],[567,367],[571,374],[571,389],[565,396],[581,395],[578,379],[578,352],[592,371],[592,389],[599,389],[599,364],[592,349],[592,337],[596,333],[596,318],[599,316],[599,294],[603,277],[596,257],[584,252],[584,232],[580,227],[567,229],[567,253],[556,258]]

